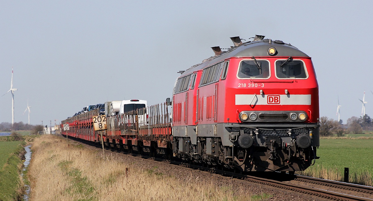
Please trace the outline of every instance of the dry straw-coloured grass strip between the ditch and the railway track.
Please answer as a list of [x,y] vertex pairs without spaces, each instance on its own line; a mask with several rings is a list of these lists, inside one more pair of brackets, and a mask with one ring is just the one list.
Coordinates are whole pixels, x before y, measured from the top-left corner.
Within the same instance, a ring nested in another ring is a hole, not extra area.
[[[57,136],[43,135],[32,145],[28,169],[31,200],[260,200],[247,189],[185,182],[152,170],[131,167],[115,156]],[[126,176],[125,169],[131,172]],[[265,195],[264,197],[268,197]]]

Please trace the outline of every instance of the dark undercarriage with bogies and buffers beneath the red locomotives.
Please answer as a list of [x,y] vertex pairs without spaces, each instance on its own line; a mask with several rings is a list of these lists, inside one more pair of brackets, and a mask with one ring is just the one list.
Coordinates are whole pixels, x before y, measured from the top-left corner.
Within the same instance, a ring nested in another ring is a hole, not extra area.
[[[319,146],[317,125],[198,125],[198,132],[188,135],[177,135],[177,131],[185,131],[185,128],[173,129],[176,131],[174,152],[179,157],[228,164],[242,171],[305,170],[316,159]],[[245,152],[249,152],[250,159],[244,160]],[[250,165],[234,163],[233,160],[239,159],[234,159],[232,153],[237,154],[237,158],[241,156],[241,160],[250,161]]]

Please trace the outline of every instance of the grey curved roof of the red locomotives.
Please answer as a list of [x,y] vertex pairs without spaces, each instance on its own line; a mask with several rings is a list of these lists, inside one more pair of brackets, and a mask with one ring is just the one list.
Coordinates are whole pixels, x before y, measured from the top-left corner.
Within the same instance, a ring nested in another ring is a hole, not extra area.
[[247,42],[238,47],[232,47],[228,51],[222,52],[219,56],[210,57],[205,62],[190,67],[185,70],[181,76],[204,69],[207,66],[231,57],[268,57],[267,50],[270,47],[274,47],[277,50],[275,57],[309,57],[291,44],[286,44],[279,40],[272,41],[270,39],[263,39],[260,41]]

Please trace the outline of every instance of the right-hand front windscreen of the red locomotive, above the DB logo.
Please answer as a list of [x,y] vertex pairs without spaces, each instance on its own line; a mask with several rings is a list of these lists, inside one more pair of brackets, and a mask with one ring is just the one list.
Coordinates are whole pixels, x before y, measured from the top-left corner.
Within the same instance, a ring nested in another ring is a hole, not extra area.
[[307,79],[308,74],[302,60],[277,60],[276,61],[276,77],[279,79]]

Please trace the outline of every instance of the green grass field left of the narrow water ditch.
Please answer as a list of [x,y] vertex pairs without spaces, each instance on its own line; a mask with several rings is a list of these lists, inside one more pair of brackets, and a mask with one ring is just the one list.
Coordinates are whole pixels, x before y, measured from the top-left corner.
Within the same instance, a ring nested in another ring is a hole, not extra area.
[[25,142],[0,142],[0,200],[22,200],[23,181],[19,174]]

